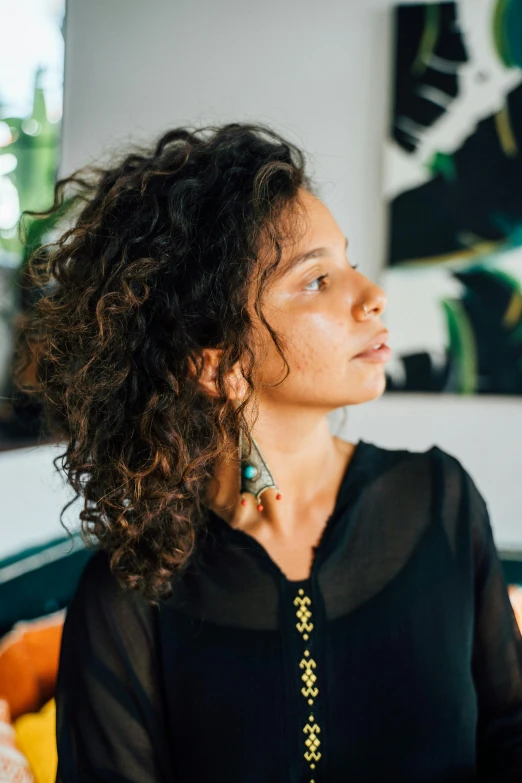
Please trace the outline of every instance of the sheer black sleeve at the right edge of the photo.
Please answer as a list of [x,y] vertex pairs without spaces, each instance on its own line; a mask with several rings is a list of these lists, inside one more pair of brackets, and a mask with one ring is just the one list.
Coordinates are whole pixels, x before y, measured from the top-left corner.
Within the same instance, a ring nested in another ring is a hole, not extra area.
[[487,504],[464,473],[474,562],[477,779],[522,781],[522,639]]

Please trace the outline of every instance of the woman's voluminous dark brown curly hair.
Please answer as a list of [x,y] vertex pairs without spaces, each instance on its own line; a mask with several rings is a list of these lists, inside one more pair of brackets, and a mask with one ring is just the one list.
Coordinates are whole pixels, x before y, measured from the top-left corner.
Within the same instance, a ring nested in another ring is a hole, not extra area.
[[[76,497],[60,521],[82,495],[86,545],[152,602],[172,594],[195,549],[216,459],[233,456],[240,429],[251,442],[252,291],[288,374],[261,304],[295,235],[299,189],[316,195],[305,162],[264,124],[179,127],[58,180],[49,210],[24,213],[56,213],[73,188],[67,228],[29,259],[41,295],[21,319],[14,368],[67,444],[53,462]],[[204,347],[222,349],[214,397],[197,384]],[[249,393],[236,407],[223,379],[237,362]]]

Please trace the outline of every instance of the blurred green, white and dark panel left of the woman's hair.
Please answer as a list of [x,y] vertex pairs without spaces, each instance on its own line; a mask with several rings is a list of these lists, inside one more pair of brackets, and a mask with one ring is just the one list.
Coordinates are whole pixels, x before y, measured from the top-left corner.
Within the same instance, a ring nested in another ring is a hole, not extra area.
[[[17,315],[31,291],[22,285],[30,251],[50,223],[25,210],[54,198],[63,108],[65,0],[0,0],[0,451],[41,434],[37,405],[22,404],[12,381]],[[18,405],[18,407],[17,407]]]

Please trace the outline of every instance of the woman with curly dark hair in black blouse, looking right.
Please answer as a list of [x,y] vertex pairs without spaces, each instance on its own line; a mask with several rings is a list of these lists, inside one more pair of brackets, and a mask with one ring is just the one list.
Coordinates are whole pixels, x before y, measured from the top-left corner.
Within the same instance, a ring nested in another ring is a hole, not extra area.
[[483,497],[437,446],[330,432],[385,390],[386,297],[303,153],[261,125],[178,128],[54,209],[67,185],[83,202],[34,259],[26,329],[98,543],[65,621],[57,780],[522,780]]

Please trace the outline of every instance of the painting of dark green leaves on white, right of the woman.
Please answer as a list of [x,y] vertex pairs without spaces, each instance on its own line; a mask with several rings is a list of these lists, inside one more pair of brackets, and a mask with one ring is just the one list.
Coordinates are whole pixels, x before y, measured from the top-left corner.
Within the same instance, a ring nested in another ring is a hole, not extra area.
[[387,391],[522,393],[522,0],[394,8]]

